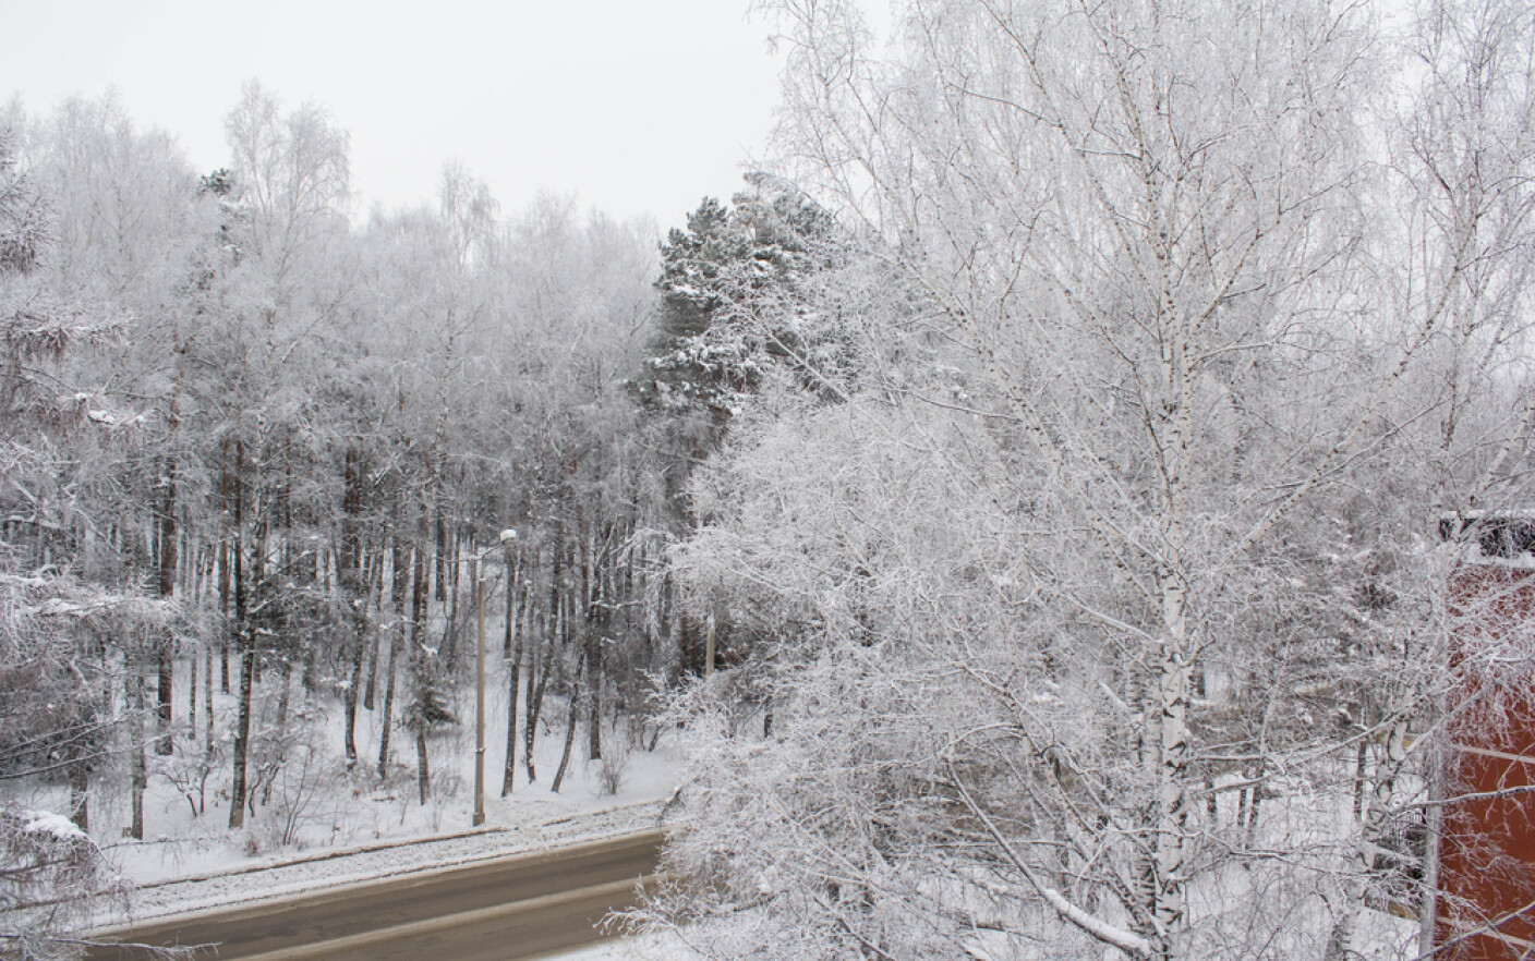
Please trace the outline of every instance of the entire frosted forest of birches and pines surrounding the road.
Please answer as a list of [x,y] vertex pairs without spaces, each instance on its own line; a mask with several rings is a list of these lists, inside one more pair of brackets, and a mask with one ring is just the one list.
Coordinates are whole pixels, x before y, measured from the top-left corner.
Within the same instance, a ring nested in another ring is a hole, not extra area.
[[427,804],[482,614],[488,791],[674,751],[629,921],[701,956],[1484,921],[1424,840],[1455,639],[1478,723],[1535,674],[1454,594],[1530,548],[1527,6],[754,9],[775,155],[662,243],[457,164],[361,215],[258,83],[216,170],[0,114],[0,907],[112,887],[155,783],[278,847]]

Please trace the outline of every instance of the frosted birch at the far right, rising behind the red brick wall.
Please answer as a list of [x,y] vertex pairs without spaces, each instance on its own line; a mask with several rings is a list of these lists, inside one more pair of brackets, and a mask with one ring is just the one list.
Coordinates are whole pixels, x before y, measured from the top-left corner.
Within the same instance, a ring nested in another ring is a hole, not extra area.
[[[1431,336],[1423,362],[1405,378],[1409,390],[1389,413],[1401,425],[1403,450],[1383,465],[1380,487],[1400,491],[1397,510],[1415,508],[1420,522],[1438,511],[1463,522],[1446,525],[1449,543],[1428,554],[1391,536],[1371,543],[1380,597],[1391,602],[1375,622],[1394,622],[1374,649],[1389,652],[1395,666],[1377,671],[1369,685],[1368,708],[1385,732],[1377,745],[1358,748],[1357,792],[1366,861],[1391,849],[1391,837],[1421,818],[1418,811],[1428,812],[1418,895],[1420,946],[1428,952],[1435,916],[1458,915],[1467,929],[1486,921],[1478,906],[1438,904],[1438,847],[1477,841],[1440,838],[1437,824],[1441,803],[1458,794],[1448,774],[1449,728],[1466,723],[1446,717],[1444,706],[1464,711],[1483,698],[1455,686],[1471,680],[1475,689],[1480,682],[1466,674],[1492,669],[1467,639],[1484,639],[1495,614],[1467,605],[1452,586],[1464,562],[1481,560],[1478,540],[1489,537],[1469,519],[1520,510],[1530,497],[1535,29],[1521,3],[1432,2],[1414,9],[1398,49],[1408,84],[1391,127],[1382,261],[1389,264],[1391,309]],[[1448,669],[1457,645],[1474,665],[1469,671]],[[1492,671],[1524,671],[1526,660]],[[1432,723],[1414,738],[1415,711]],[[1357,912],[1340,920],[1337,956],[1354,949],[1357,927]]]

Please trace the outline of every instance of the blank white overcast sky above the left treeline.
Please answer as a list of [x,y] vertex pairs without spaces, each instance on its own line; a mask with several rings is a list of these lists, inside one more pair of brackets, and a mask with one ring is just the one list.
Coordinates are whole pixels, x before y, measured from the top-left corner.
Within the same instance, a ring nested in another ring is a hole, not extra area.
[[537,190],[680,224],[761,155],[781,55],[744,0],[0,0],[0,103],[115,88],[141,127],[226,166],[255,77],[352,134],[358,213],[434,196],[444,161],[503,209]]

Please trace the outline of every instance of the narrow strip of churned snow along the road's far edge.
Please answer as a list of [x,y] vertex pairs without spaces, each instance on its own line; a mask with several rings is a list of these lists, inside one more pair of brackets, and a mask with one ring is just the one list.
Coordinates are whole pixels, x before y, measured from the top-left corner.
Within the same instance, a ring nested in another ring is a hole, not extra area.
[[622,804],[542,823],[376,843],[328,850],[307,858],[250,864],[150,883],[138,887],[127,904],[103,906],[103,910],[95,916],[95,924],[106,927],[129,921],[140,923],[646,831],[655,827],[660,809],[660,801]]

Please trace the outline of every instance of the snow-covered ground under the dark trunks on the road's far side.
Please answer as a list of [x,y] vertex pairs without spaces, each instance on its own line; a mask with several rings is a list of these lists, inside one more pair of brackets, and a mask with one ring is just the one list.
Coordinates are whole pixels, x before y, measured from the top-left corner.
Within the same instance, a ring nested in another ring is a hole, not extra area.
[[[485,824],[471,827],[474,809],[473,688],[453,695],[451,709],[470,723],[430,738],[431,786],[422,804],[416,784],[414,738],[396,729],[387,778],[378,777],[381,711],[358,709],[359,763],[342,760],[344,711],[335,697],[319,695],[304,706],[293,680],[284,729],[284,763],[252,794],[255,812],[230,829],[230,737],[235,702],[215,695],[215,749],[206,749],[203,698],[198,692],[195,740],[187,737],[187,663],[177,675],[175,752],[149,754],[144,795],[146,840],[127,838],[130,798],[117,771],[103,772],[91,792],[91,835],[124,880],[137,886],[127,909],[134,920],[184,912],[456,864],[519,850],[594,838],[655,824],[660,803],[671,795],[677,765],[665,738],[646,751],[649,732],[603,731],[605,760],[586,758],[586,732],[579,731],[560,792],[551,791],[563,748],[566,705],[548,698],[537,743],[537,781],[530,783],[517,732],[517,777],[500,797],[507,741],[507,679],[499,651],[487,679]],[[198,679],[201,682],[201,677]],[[253,728],[272,729],[276,677],[262,685]],[[215,682],[216,683],[216,682]],[[404,694],[404,691],[401,691]],[[402,700],[402,698],[401,698]],[[382,703],[382,688],[378,692]],[[396,711],[401,702],[396,702]],[[258,760],[252,758],[256,778]],[[201,778],[206,769],[206,780]],[[9,784],[6,800],[35,811],[66,811],[68,792],[51,784]],[[114,909],[109,920],[123,920]]]

